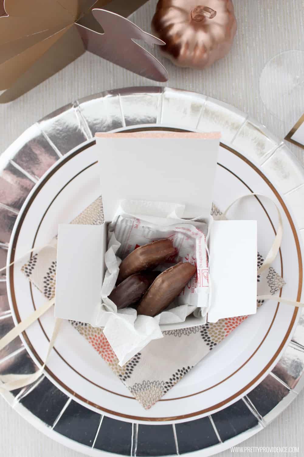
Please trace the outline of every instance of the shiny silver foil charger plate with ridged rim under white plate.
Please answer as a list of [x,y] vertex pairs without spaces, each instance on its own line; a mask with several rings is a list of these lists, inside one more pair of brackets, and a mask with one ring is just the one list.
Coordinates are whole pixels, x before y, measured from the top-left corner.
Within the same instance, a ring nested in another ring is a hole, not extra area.
[[[2,154],[1,265],[5,264],[10,235],[13,229],[16,231],[14,225],[18,214],[24,211],[27,196],[51,166],[63,156],[71,155],[71,151],[74,154],[88,148],[96,132],[147,128],[220,130],[222,147],[267,176],[270,185],[282,196],[282,205],[287,204],[292,213],[294,232],[299,234],[298,238],[303,236],[304,170],[285,143],[246,114],[210,97],[170,88],[129,88],[64,106],[26,130]],[[300,244],[298,240],[299,297],[302,291]],[[14,326],[4,272],[0,293],[1,338]],[[28,347],[23,335],[0,351],[0,375],[35,372],[38,367]],[[117,418],[80,400],[45,374],[33,385],[6,393],[4,397],[39,430],[87,455],[110,452],[162,456],[200,450],[201,455],[207,456],[261,430],[303,387],[304,319],[296,310],[289,333],[277,352],[273,365],[269,364],[244,395],[204,414],[176,420],[144,417],[136,420],[124,414]],[[170,402],[165,404],[170,409]],[[170,411],[167,415],[170,416]]]

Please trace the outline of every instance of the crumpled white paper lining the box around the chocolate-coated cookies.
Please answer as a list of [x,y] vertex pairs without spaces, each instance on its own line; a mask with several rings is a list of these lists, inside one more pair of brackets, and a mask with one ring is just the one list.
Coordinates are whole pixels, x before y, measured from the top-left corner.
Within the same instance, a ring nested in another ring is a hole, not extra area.
[[[165,202],[123,201],[113,222],[108,225],[108,249],[105,254],[106,273],[101,290],[102,305],[96,326],[103,333],[123,366],[151,340],[162,338],[160,324],[184,322],[194,312],[205,318],[208,312],[208,257],[206,222],[180,219],[183,205]],[[174,259],[157,270],[165,270],[182,261],[196,264],[197,276],[185,286],[169,308],[155,317],[137,316],[134,308],[117,310],[108,298],[115,287],[119,264],[138,246],[170,238],[176,249]]]

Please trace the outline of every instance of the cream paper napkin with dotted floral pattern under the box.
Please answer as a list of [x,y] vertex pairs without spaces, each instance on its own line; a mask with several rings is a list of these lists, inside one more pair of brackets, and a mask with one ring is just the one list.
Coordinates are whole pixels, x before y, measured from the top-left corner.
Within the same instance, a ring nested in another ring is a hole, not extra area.
[[[223,218],[221,211],[215,205],[212,207],[211,214],[214,219]],[[88,206],[72,223],[90,225],[103,223],[101,197]],[[49,299],[55,295],[56,255],[57,239],[55,238],[52,246],[40,250],[21,268],[29,280]],[[262,263],[263,258],[258,254],[258,268]],[[274,271],[273,267],[270,267],[258,276],[258,295],[275,294],[284,284],[281,276]],[[263,300],[258,301],[258,307],[262,303]],[[164,338],[151,341],[124,367],[119,367],[118,359],[103,335],[102,329],[82,322],[70,321],[70,323],[98,351],[144,409],[149,409],[246,318],[247,316],[220,319],[216,323],[165,331]],[[196,348],[196,351],[193,351],[193,348]]]

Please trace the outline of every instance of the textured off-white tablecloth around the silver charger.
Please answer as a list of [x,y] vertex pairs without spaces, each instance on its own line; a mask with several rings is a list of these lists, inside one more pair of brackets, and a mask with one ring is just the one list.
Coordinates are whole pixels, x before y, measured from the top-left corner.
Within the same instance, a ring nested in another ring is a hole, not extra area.
[[[131,19],[139,27],[149,31],[155,4],[156,0],[150,0],[136,11]],[[234,0],[234,5],[238,31],[230,54],[204,71],[179,69],[161,59],[170,75],[166,85],[195,90],[226,101],[258,119],[276,136],[284,138],[297,119],[282,122],[268,112],[259,95],[259,77],[265,64],[276,54],[289,49],[304,51],[304,1]],[[157,84],[120,69],[93,54],[85,53],[24,96],[8,104],[0,104],[0,152],[37,119],[62,105],[103,90],[143,85]],[[280,103],[278,94],[279,108]],[[289,146],[304,164],[303,149],[292,144]],[[252,451],[232,454],[227,450],[219,456],[303,456],[304,391],[271,425],[243,444],[299,446],[299,453]],[[81,455],[42,435],[0,398],[1,457]]]

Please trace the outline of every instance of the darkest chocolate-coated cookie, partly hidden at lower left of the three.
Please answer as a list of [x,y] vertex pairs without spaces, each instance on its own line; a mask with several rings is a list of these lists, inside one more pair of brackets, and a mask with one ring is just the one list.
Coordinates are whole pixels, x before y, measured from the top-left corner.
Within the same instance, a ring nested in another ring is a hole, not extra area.
[[129,276],[110,293],[109,298],[118,309],[136,303],[148,290],[160,271],[143,271]]

